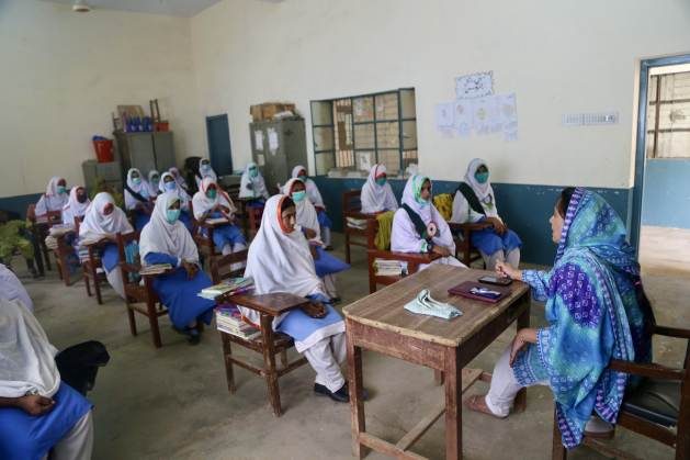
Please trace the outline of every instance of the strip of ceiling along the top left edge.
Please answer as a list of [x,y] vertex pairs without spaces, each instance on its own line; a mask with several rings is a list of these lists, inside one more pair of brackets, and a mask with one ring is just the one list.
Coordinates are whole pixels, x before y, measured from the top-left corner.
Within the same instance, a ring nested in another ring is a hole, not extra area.
[[[75,0],[47,0],[73,4]],[[120,10],[191,18],[220,0],[86,0],[94,11]]]

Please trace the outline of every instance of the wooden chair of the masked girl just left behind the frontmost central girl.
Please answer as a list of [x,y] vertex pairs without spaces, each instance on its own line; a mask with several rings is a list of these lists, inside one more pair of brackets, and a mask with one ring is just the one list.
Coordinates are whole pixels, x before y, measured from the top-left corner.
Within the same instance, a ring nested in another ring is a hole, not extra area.
[[[160,328],[158,327],[158,317],[168,314],[168,310],[160,303],[160,299],[154,291],[155,274],[145,274],[142,278],[144,283],[138,280],[142,263],[129,263],[125,257],[125,246],[132,242],[136,242],[138,235],[133,232],[128,234],[117,234],[117,250],[120,254],[120,269],[122,270],[122,282],[125,288],[125,303],[127,305],[127,317],[129,319],[129,332],[133,336],[137,335],[136,318],[134,313],[140,313],[148,318],[151,328],[154,346],[161,347]],[[132,276],[132,277],[131,277]]]

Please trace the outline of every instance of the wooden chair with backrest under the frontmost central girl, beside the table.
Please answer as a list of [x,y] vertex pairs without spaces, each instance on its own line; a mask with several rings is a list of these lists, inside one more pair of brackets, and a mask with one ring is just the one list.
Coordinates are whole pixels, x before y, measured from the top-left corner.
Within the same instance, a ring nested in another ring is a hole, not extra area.
[[[247,250],[242,250],[235,254],[229,254],[216,258],[211,266],[211,273],[214,283],[223,281],[222,273],[227,272],[230,265],[239,261],[247,260]],[[271,294],[270,294],[271,295]],[[290,294],[279,294],[290,295]],[[294,298],[293,295],[290,295]],[[281,310],[280,299],[273,301],[268,300],[262,302],[261,300],[252,300],[251,295],[238,295],[228,299],[228,302],[237,303],[238,305],[246,306],[248,308],[257,310],[260,314],[260,329],[261,336],[254,339],[245,339],[223,330],[220,333],[220,340],[223,343],[223,356],[225,361],[225,374],[227,378],[227,389],[230,394],[235,394],[237,386],[235,385],[235,371],[234,364],[237,364],[257,375],[262,377],[265,380],[269,400],[273,407],[273,414],[280,417],[282,414],[280,389],[278,385],[278,379],[287,372],[297,369],[299,366],[307,362],[306,358],[301,357],[290,362],[287,360],[287,350],[294,347],[294,340],[292,337],[276,333],[273,330],[273,318],[281,312],[287,311]],[[256,298],[253,298],[256,299]],[[278,307],[278,310],[274,310]],[[256,366],[254,363],[241,359],[237,355],[233,355],[233,344],[239,345],[247,349],[253,350],[263,357],[263,366]],[[280,356],[281,366],[275,366],[275,356]]]

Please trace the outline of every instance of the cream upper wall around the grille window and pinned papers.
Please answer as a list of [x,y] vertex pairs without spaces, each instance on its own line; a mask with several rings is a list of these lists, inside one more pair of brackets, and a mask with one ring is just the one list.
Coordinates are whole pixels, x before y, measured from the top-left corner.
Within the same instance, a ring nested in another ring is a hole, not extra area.
[[[199,108],[228,113],[236,167],[250,157],[250,104],[294,101],[309,126],[309,100],[411,86],[420,166],[434,178],[457,179],[480,156],[494,181],[624,188],[638,59],[690,52],[690,2],[225,0],[191,30]],[[517,93],[519,141],[436,130],[454,77],[480,70]],[[564,113],[610,110],[620,124],[561,126]]]

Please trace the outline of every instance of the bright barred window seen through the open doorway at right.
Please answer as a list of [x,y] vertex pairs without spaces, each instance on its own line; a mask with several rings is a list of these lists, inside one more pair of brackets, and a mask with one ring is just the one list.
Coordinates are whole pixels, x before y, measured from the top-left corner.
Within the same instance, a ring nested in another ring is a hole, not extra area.
[[647,158],[690,157],[690,71],[649,77]]

